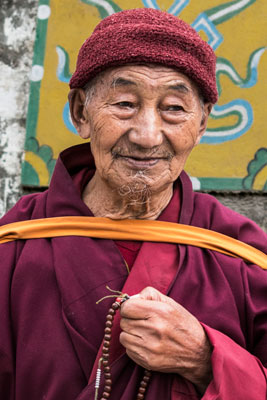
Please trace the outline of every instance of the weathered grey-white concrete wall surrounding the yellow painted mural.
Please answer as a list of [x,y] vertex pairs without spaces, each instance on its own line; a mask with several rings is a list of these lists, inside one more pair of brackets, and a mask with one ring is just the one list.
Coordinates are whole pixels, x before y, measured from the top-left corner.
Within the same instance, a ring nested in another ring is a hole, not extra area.
[[[38,0],[1,0],[0,7],[0,215],[22,194],[21,161],[25,139],[29,75]],[[267,232],[267,195],[212,193]]]

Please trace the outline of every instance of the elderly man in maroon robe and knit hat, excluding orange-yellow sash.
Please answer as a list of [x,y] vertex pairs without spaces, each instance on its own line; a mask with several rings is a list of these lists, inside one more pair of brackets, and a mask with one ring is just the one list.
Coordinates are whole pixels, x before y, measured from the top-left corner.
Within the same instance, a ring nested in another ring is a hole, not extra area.
[[[180,222],[266,251],[264,232],[193,193],[183,172],[217,100],[215,55],[190,26],[152,9],[106,18],[70,87],[90,145],[65,150],[50,188],[3,225]],[[263,269],[197,246],[85,236],[0,245],[1,398],[266,399]]]

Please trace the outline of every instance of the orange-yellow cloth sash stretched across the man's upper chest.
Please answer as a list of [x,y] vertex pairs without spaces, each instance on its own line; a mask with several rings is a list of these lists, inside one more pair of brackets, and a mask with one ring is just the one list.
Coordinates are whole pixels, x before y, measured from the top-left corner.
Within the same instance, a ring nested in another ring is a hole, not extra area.
[[55,217],[14,222],[0,227],[0,244],[17,239],[58,236],[187,244],[239,257],[267,269],[267,255],[246,243],[215,231],[173,222]]

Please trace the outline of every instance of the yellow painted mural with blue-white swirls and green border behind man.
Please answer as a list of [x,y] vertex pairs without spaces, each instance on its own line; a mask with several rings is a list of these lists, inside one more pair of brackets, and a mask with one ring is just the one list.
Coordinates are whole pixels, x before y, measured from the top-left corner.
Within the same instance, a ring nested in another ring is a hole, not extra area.
[[23,185],[47,186],[59,152],[82,142],[67,94],[83,41],[101,19],[137,7],[181,17],[217,55],[219,101],[186,164],[195,190],[267,192],[266,0],[40,0]]

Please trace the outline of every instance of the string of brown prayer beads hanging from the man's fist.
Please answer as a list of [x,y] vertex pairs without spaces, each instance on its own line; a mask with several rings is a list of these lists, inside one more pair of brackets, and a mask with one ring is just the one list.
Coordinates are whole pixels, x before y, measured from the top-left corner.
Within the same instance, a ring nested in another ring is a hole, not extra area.
[[[109,290],[111,290],[111,289],[109,289]],[[103,366],[104,381],[105,381],[104,390],[103,390],[102,397],[100,400],[108,399],[110,397],[111,389],[112,389],[112,379],[111,379],[110,366],[109,366],[109,349],[110,349],[110,342],[111,342],[111,331],[112,331],[112,326],[113,326],[113,320],[114,320],[116,311],[120,308],[122,303],[124,303],[126,300],[130,299],[129,295],[123,294],[121,292],[118,292],[118,293],[119,293],[119,297],[116,298],[115,302],[112,304],[111,308],[108,310],[108,314],[106,317],[106,324],[105,324],[105,331],[104,331],[105,335],[104,335],[103,348],[102,348],[102,357],[100,358],[101,361],[99,360],[100,362],[98,365],[99,366],[98,369],[100,369],[101,364]],[[111,297],[111,296],[106,296],[106,297]],[[95,400],[97,400],[97,396],[98,396],[98,388],[99,388],[99,384],[100,384],[100,374],[101,373],[98,374],[98,370],[97,370],[96,386],[95,386],[96,387]],[[151,372],[148,371],[147,369],[145,369],[143,379],[140,382],[140,385],[138,388],[136,400],[143,400],[145,398],[145,392],[146,392],[146,388],[149,383],[150,377],[151,377]]]

